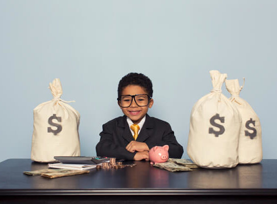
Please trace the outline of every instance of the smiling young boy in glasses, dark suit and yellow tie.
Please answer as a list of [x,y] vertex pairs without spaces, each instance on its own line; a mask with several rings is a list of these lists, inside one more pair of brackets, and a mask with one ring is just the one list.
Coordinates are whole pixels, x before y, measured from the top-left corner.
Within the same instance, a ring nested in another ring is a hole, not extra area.
[[142,73],[129,73],[118,84],[118,105],[124,116],[103,125],[97,156],[124,160],[149,160],[149,149],[169,145],[169,158],[181,158],[183,147],[169,123],[150,117],[153,106],[152,82]]

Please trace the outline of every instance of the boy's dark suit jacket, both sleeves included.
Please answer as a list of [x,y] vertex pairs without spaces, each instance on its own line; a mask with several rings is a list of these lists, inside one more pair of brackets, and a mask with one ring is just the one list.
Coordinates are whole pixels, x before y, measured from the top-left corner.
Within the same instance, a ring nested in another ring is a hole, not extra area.
[[[126,116],[105,123],[100,137],[100,141],[96,145],[97,156],[124,160],[134,159],[136,152],[125,149],[134,140]],[[149,117],[147,114],[136,141],[145,142],[149,149],[154,146],[169,145],[169,158],[181,158],[183,155],[183,147],[177,142],[169,123]]]

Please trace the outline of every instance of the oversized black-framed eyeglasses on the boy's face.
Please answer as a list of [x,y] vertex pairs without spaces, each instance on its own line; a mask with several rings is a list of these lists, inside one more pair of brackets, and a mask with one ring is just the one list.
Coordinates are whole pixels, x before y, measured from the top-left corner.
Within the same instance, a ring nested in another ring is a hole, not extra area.
[[118,100],[118,105],[122,108],[128,108],[133,102],[133,98],[136,104],[140,107],[148,106],[151,97],[148,94],[137,94],[137,95],[120,95]]

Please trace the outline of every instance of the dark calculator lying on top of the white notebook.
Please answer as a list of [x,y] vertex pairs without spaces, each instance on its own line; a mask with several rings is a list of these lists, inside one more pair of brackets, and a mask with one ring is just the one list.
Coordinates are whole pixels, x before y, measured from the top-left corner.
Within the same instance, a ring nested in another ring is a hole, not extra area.
[[68,157],[68,156],[55,156],[55,160],[64,164],[100,164],[109,161],[108,157]]

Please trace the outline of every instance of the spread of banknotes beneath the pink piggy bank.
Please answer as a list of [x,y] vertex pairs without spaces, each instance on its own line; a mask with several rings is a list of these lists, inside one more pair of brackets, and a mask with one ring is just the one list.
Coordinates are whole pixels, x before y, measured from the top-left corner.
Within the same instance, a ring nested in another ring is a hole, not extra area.
[[186,159],[172,159],[169,158],[167,162],[157,163],[153,166],[165,169],[168,171],[192,171],[193,168],[198,168],[198,166]]

